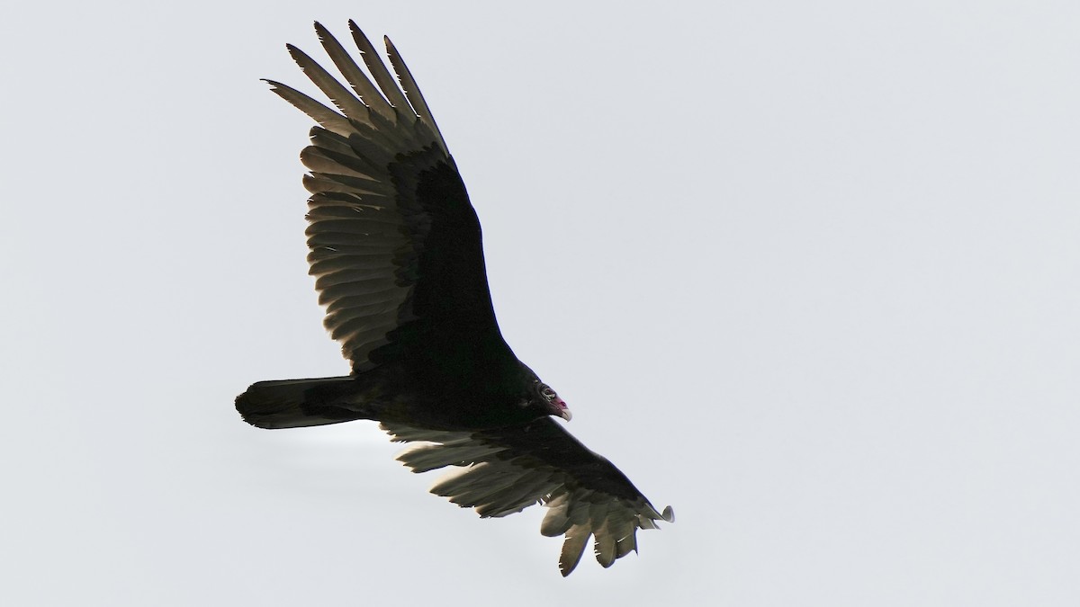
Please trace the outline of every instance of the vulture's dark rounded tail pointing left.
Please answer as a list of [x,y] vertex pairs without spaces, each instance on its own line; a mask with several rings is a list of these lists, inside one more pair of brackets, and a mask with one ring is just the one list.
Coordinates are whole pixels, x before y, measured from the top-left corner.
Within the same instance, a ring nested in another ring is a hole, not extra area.
[[244,421],[259,428],[301,428],[362,419],[363,414],[341,406],[351,377],[258,381],[237,396]]

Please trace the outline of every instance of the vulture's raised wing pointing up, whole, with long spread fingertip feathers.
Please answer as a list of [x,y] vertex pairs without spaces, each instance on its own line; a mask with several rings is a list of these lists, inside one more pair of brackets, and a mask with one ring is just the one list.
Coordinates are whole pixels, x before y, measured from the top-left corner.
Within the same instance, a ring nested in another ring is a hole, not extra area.
[[516,368],[496,324],[480,221],[431,111],[390,40],[404,92],[356,24],[349,27],[370,79],[315,24],[351,91],[288,45],[337,109],[268,81],[320,124],[300,159],[311,172],[308,261],[326,328],[354,373],[401,359],[475,368],[478,356]]

